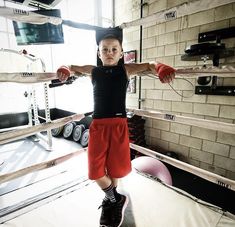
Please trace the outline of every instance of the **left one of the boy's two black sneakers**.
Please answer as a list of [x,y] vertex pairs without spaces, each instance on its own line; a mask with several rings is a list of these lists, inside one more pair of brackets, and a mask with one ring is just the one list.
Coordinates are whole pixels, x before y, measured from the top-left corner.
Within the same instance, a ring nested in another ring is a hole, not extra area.
[[98,209],[102,208],[101,215],[100,215],[100,227],[110,227],[110,217],[112,212],[112,207],[114,206],[109,200],[103,200],[102,204],[99,206]]

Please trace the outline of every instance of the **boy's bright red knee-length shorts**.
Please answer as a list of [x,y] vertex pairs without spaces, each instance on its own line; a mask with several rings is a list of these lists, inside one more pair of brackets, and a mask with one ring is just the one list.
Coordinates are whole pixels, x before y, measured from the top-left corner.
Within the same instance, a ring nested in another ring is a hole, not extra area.
[[89,128],[88,176],[121,178],[131,171],[126,118],[93,119]]

